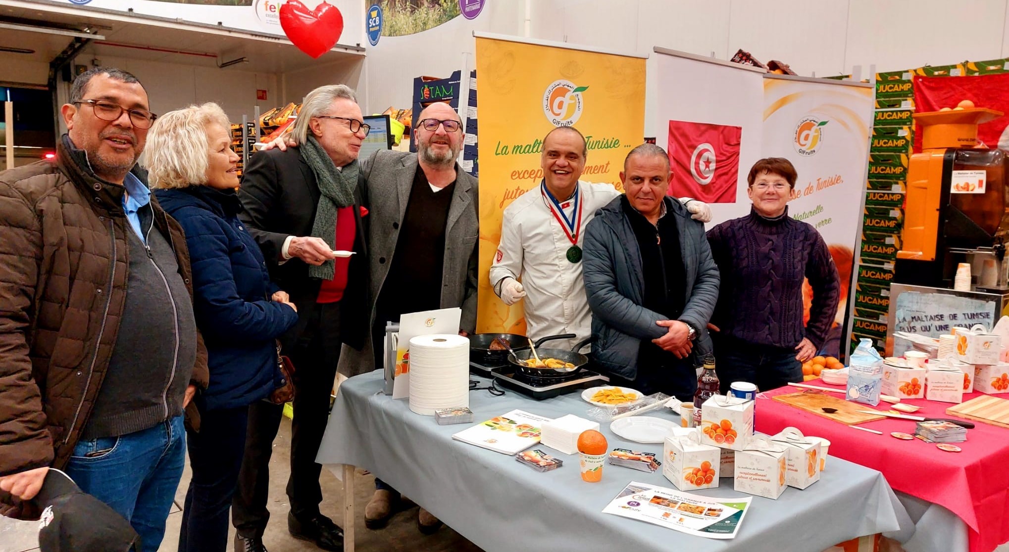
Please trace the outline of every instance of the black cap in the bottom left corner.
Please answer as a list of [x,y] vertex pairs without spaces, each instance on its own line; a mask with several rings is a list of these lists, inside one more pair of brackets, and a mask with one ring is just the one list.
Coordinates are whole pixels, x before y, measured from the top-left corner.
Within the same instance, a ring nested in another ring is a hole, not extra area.
[[41,552],[128,552],[140,550],[140,536],[115,510],[81,491],[66,473],[49,469],[33,499]]

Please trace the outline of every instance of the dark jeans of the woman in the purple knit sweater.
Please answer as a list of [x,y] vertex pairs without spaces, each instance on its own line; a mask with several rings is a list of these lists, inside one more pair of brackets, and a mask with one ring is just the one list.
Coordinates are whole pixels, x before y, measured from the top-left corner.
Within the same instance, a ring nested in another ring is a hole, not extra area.
[[747,343],[720,335],[713,340],[714,372],[722,394],[733,382],[749,382],[760,391],[802,382],[802,363],[795,360],[797,353],[793,349]]

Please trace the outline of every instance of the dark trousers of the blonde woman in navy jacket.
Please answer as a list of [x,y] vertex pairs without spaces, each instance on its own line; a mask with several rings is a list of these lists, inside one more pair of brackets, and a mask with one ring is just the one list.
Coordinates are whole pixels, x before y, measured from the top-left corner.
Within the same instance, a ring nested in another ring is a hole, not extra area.
[[200,410],[200,432],[186,443],[193,478],[186,492],[179,552],[224,552],[228,546],[228,512],[238,486],[245,451],[247,406]]

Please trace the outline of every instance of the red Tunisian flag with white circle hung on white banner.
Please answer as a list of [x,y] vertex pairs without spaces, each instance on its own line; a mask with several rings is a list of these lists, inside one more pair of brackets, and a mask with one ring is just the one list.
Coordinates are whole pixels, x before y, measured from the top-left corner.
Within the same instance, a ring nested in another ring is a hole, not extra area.
[[669,195],[735,203],[743,127],[669,122]]

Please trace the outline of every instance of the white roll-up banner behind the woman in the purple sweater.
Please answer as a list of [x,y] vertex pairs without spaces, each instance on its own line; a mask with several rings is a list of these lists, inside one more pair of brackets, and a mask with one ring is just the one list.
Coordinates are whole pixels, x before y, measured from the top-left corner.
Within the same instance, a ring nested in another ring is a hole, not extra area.
[[[798,179],[788,213],[819,231],[840,276],[840,304],[821,350],[830,357],[838,356],[844,342],[842,326],[863,219],[873,93],[872,86],[860,83],[764,78],[762,157],[785,157],[795,165]],[[749,168],[740,167],[744,176]],[[806,286],[807,311],[810,298]]]

